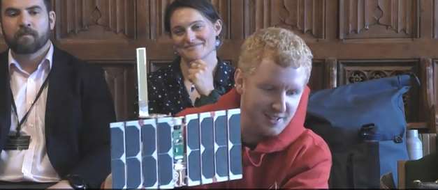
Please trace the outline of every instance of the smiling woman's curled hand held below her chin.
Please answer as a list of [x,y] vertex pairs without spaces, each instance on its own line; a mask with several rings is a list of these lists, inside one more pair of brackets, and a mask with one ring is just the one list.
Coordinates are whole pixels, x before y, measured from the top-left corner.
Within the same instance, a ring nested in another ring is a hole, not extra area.
[[207,63],[200,59],[190,63],[188,78],[200,95],[210,95],[214,90],[213,70],[214,68],[208,68]]

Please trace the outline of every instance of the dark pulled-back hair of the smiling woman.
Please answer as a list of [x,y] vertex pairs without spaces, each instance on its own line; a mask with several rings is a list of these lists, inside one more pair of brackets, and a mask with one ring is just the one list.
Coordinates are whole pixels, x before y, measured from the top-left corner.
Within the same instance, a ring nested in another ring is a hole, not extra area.
[[[214,9],[212,3],[207,0],[175,0],[166,7],[166,13],[164,14],[164,30],[171,35],[170,32],[170,17],[173,12],[178,8],[193,8],[198,10],[201,15],[214,23],[218,19],[221,19],[219,13]],[[224,31],[224,30],[222,30]]]

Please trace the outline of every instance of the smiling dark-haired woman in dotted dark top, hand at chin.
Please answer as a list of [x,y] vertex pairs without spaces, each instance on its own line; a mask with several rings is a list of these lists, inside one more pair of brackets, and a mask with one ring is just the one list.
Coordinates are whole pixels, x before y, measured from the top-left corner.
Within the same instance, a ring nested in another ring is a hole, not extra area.
[[217,57],[223,22],[210,1],[173,1],[164,26],[177,58],[148,76],[150,113],[214,103],[233,88],[235,69]]

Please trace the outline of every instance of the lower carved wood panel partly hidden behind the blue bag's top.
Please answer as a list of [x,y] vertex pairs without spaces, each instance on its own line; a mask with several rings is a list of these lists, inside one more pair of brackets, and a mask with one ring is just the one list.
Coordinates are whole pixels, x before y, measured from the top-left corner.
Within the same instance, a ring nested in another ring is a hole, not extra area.
[[[361,60],[339,61],[338,81],[340,85],[352,84],[371,79],[393,77],[398,74],[413,73],[421,77],[419,60]],[[403,95],[404,111],[408,122],[418,122],[420,88],[412,85]]]

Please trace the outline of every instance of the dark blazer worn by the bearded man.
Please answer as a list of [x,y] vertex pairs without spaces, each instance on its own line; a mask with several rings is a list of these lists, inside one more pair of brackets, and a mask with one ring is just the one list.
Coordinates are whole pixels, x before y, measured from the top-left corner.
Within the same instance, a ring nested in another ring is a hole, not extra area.
[[[0,151],[10,130],[8,52],[0,54]],[[61,178],[99,187],[110,173],[110,122],[115,110],[103,70],[54,48],[45,110],[48,157]]]

